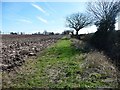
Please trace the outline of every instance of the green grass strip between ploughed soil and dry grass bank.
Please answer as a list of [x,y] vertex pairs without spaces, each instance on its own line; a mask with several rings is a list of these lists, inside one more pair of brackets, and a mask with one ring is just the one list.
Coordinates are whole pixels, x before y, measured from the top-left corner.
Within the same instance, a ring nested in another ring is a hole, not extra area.
[[91,88],[104,86],[97,80],[83,80],[80,65],[84,55],[67,39],[47,48],[37,60],[29,60],[7,87]]

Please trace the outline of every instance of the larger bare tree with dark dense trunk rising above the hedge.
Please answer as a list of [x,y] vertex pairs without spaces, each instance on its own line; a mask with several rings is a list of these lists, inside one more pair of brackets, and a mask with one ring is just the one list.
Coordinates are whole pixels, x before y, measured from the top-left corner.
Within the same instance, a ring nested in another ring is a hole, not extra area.
[[88,3],[88,11],[95,19],[98,30],[115,29],[116,16],[120,12],[120,0],[98,0]]

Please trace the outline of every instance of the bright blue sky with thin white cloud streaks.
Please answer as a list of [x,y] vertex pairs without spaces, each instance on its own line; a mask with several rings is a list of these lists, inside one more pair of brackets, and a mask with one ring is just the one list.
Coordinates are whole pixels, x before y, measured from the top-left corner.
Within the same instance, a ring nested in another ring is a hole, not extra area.
[[[2,2],[0,3],[0,30],[4,33],[25,32],[62,33],[66,27],[66,17],[76,12],[86,12],[86,2]],[[116,25],[118,26],[118,25]],[[93,25],[79,33],[91,33],[97,29]]]

